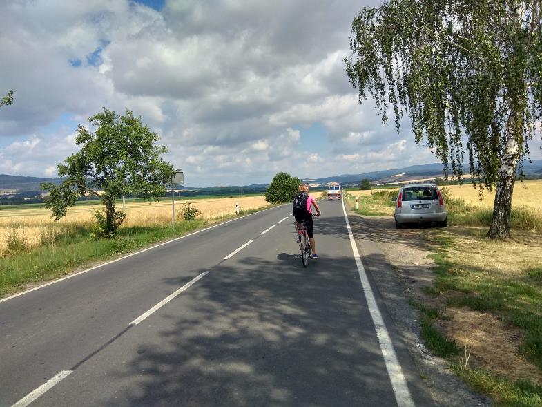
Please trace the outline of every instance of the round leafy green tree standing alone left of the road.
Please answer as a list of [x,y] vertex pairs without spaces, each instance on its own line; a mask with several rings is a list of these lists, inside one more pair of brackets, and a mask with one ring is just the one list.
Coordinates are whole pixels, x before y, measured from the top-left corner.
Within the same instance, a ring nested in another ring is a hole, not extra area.
[[118,116],[104,108],[88,122],[96,126],[95,133],[79,125],[75,143],[81,149],[57,164],[59,176],[66,177],[64,181],[60,185],[44,183],[41,188],[50,191],[46,207],[55,220],[65,216],[77,198],[97,196],[105,206],[104,211],[95,212],[98,235],[112,237],[124,220],[124,213],[115,209],[115,199],[134,195],[157,200],[164,193],[173,166],[161,158],[167,149],[155,145],[158,135],[131,111]]

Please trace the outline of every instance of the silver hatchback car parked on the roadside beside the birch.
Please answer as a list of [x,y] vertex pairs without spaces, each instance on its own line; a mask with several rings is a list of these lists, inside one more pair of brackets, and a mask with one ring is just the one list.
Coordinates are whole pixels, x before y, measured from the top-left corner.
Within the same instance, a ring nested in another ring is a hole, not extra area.
[[399,189],[395,199],[395,225],[436,222],[446,227],[448,215],[441,191],[435,184],[408,184]]

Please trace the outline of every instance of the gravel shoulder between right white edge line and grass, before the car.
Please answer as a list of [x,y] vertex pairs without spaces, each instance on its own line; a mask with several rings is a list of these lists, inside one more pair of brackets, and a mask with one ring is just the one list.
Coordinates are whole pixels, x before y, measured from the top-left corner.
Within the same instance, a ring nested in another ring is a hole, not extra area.
[[[346,201],[345,201],[346,203]],[[437,406],[492,406],[472,392],[449,370],[449,363],[429,353],[420,338],[418,311],[409,305],[422,298],[420,290],[431,286],[434,263],[424,238],[425,227],[396,230],[389,216],[361,216],[349,212],[354,236],[371,281],[380,292],[396,328]],[[427,298],[423,297],[424,301]]]

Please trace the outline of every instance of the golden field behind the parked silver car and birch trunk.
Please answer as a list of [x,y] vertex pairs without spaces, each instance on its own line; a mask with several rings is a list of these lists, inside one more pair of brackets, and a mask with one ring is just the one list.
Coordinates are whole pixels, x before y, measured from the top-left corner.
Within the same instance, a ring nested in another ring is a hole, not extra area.
[[[488,192],[484,189],[480,196],[480,190],[474,189],[472,184],[465,183],[463,186],[459,185],[447,185],[445,187],[449,189],[454,198],[463,199],[470,205],[476,205],[478,207],[493,207],[493,200],[495,198],[495,191]],[[373,191],[385,191],[386,189],[374,188]],[[353,196],[367,196],[371,195],[371,191],[348,191]],[[482,200],[480,199],[482,198]],[[514,196],[512,197],[512,207],[528,207],[530,209],[538,209],[542,211],[542,180],[527,180],[525,182],[516,182],[514,187]]]

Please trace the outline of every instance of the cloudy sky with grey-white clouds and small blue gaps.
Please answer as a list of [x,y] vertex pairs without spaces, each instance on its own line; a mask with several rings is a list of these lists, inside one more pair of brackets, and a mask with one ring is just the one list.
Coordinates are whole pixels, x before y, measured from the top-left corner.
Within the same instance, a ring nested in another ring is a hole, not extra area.
[[[0,173],[57,175],[79,124],[128,108],[194,187],[437,162],[358,104],[342,59],[380,0],[0,2]],[[532,158],[540,158],[533,148]]]

